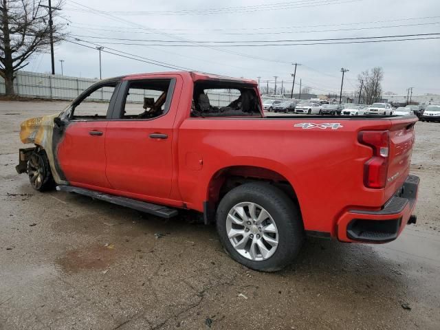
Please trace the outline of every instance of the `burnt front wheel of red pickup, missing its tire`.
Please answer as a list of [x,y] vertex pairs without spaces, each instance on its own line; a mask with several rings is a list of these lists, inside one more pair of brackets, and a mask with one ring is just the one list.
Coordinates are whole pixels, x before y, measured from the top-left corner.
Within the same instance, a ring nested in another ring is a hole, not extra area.
[[44,150],[34,151],[28,160],[29,181],[35,190],[47,191],[55,186],[50,171],[49,159]]

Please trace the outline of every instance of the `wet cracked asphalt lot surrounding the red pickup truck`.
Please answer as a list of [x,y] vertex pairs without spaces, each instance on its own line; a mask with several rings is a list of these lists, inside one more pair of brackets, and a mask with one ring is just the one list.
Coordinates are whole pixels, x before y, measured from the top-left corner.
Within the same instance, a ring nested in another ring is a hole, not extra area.
[[386,245],[309,239],[265,274],[193,214],[32,190],[14,169],[19,123],[65,105],[0,101],[0,329],[440,328],[440,124],[416,124],[417,225]]

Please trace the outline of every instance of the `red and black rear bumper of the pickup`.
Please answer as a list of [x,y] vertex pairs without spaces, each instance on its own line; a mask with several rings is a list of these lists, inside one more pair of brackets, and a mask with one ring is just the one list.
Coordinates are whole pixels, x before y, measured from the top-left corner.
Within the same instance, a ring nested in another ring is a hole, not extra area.
[[419,177],[406,181],[380,210],[348,210],[338,221],[337,236],[343,242],[386,243],[397,239],[406,223],[414,223],[411,214],[417,201]]

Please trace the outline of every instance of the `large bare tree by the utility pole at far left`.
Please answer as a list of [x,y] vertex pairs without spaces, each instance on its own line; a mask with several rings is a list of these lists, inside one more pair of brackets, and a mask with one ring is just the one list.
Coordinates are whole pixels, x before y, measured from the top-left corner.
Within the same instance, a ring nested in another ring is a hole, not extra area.
[[[5,80],[6,95],[14,95],[14,73],[29,64],[36,52],[50,47],[49,10],[36,1],[0,0],[0,76]],[[62,0],[54,3],[60,8]],[[47,7],[47,6],[46,6]],[[52,22],[58,10],[52,10]],[[53,23],[54,43],[63,39],[64,25]]]

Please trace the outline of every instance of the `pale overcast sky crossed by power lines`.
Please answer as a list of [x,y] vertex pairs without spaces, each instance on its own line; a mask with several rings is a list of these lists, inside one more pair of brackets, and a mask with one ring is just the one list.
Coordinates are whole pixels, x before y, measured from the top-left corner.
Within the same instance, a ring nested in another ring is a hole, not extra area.
[[[228,9],[218,11],[219,8]],[[406,94],[408,87],[414,87],[414,94],[440,94],[440,39],[342,45],[161,47],[116,44],[145,43],[142,41],[92,38],[276,41],[430,34],[440,32],[439,0],[66,0],[61,14],[61,21],[70,22],[67,31],[71,38],[81,40],[78,43],[95,47],[88,41],[107,47],[107,51],[120,50],[201,72],[254,79],[261,76],[261,80],[278,76],[278,81],[292,82],[291,63],[297,62],[303,65],[297,69],[296,83],[301,78],[303,85],[327,94],[339,91],[341,67],[350,70],[344,91],[353,91],[358,88],[356,78],[360,72],[380,66],[384,69],[384,91]],[[59,59],[65,61],[66,76],[99,77],[98,50],[63,43],[55,50],[57,73],[61,72]],[[49,72],[49,54],[34,56],[26,69]],[[103,78],[157,71],[175,70],[102,53]]]

